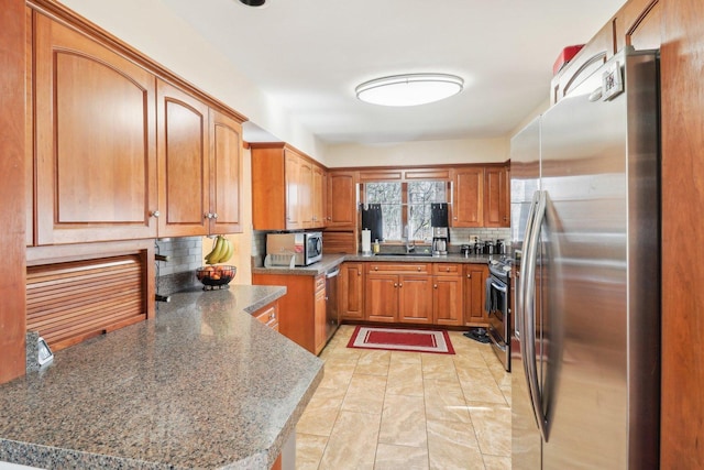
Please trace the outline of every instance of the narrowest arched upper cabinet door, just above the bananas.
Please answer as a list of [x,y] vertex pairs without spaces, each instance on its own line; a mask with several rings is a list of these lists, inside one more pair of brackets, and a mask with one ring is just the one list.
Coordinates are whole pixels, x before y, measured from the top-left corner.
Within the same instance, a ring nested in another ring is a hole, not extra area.
[[240,233],[242,125],[210,110],[210,233]]

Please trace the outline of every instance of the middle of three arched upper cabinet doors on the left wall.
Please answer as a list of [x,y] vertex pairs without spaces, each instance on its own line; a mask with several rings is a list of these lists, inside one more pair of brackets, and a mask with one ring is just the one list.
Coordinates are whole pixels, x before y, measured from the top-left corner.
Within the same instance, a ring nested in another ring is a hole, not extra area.
[[160,237],[208,233],[208,107],[157,81]]

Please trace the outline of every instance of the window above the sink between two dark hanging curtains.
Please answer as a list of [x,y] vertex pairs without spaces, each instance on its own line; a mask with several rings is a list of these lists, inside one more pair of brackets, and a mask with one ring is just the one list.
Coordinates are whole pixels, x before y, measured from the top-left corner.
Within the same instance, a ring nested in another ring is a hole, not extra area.
[[430,205],[448,201],[447,182],[366,183],[364,192],[366,204],[382,206],[384,241],[430,242]]

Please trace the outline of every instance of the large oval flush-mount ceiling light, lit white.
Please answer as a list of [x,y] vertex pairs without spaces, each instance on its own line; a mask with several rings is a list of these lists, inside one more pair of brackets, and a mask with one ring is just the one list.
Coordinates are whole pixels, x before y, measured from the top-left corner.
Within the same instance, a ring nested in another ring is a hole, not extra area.
[[406,74],[365,81],[354,89],[362,101],[382,106],[417,106],[462,91],[464,80],[447,74]]

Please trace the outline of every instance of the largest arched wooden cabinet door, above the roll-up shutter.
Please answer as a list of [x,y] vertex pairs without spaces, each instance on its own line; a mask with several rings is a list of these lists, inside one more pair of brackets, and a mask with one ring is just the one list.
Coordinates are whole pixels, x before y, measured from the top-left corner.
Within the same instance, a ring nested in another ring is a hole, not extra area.
[[154,76],[35,18],[37,243],[155,237]]

